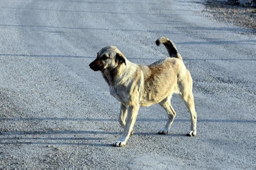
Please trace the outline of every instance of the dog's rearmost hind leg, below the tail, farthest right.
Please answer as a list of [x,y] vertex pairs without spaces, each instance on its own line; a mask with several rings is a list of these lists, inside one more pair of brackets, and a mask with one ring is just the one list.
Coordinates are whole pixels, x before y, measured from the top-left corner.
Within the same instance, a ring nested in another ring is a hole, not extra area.
[[188,111],[190,111],[191,126],[190,131],[186,133],[189,137],[194,137],[197,135],[197,112],[195,111],[195,103],[192,90],[188,93],[180,94],[181,99],[183,99]]

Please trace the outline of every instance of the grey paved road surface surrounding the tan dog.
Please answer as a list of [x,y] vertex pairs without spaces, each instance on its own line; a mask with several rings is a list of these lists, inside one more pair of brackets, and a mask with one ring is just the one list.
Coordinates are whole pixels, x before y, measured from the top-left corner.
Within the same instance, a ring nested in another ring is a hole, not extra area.
[[[255,169],[256,38],[210,21],[201,1],[0,1],[0,169]],[[173,40],[193,77],[197,137],[177,96],[171,133],[141,108],[126,147],[119,104],[88,64],[106,45],[150,64]]]

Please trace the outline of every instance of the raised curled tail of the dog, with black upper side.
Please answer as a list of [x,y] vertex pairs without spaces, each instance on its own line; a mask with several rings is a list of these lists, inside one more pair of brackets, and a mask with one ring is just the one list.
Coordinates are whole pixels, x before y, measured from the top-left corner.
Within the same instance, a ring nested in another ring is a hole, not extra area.
[[171,40],[169,40],[168,38],[160,37],[156,40],[155,43],[157,46],[161,45],[161,43],[162,43],[168,50],[170,57],[176,57],[176,58],[182,60],[182,57],[181,57],[180,53],[178,52],[177,48],[175,47],[174,43]]

